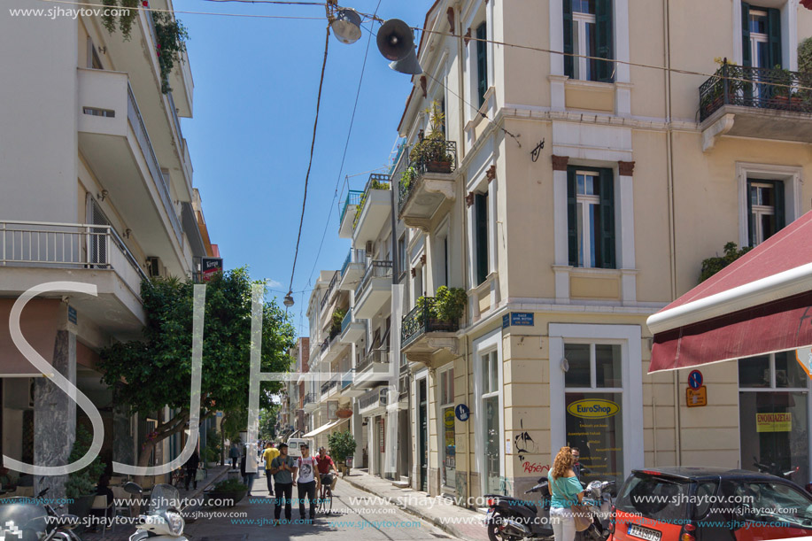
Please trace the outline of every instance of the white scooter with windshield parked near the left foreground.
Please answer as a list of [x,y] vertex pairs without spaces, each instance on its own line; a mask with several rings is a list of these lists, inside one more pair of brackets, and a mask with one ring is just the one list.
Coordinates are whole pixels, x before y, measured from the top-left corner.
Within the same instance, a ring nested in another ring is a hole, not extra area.
[[[127,483],[124,490],[129,494],[141,496],[143,489],[135,483]],[[178,509],[181,493],[171,484],[156,484],[150,496],[150,506],[146,514],[138,516],[135,533],[129,541],[141,541],[149,537],[151,541],[165,539],[168,541],[188,541],[183,537],[183,521]]]

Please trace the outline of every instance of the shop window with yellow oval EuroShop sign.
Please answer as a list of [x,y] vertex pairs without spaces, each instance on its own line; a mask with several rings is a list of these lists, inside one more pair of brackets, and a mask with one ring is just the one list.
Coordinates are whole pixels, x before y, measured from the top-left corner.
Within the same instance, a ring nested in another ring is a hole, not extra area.
[[623,381],[619,344],[564,344],[567,444],[581,454],[576,474],[623,483]]

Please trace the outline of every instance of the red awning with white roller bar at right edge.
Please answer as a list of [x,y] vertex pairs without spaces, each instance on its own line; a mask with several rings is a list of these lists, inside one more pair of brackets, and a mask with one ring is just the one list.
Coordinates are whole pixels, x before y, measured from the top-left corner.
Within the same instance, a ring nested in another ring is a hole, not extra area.
[[649,373],[812,345],[812,212],[647,321]]

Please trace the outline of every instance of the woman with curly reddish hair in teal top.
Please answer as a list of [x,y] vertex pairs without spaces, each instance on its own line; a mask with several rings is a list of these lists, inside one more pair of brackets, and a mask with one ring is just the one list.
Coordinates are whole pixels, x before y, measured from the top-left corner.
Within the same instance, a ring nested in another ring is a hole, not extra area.
[[561,447],[553,460],[553,469],[547,473],[552,495],[550,522],[555,541],[573,541],[576,537],[576,522],[571,507],[584,498],[584,489],[572,470],[573,463],[569,447]]

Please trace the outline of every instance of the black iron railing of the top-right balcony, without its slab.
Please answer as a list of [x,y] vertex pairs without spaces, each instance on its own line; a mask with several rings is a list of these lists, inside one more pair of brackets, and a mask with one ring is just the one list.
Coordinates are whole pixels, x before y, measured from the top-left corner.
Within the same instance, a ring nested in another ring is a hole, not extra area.
[[812,112],[809,87],[812,87],[812,73],[723,64],[700,86],[700,122],[723,105]]

